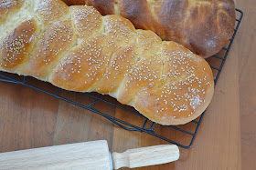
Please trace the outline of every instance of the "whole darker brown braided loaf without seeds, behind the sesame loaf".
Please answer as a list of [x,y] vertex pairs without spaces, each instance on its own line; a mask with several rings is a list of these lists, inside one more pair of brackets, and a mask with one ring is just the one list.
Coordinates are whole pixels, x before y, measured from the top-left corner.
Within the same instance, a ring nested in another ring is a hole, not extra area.
[[92,5],[101,15],[122,15],[138,29],[154,31],[197,55],[215,55],[229,42],[235,26],[233,0],[63,0]]

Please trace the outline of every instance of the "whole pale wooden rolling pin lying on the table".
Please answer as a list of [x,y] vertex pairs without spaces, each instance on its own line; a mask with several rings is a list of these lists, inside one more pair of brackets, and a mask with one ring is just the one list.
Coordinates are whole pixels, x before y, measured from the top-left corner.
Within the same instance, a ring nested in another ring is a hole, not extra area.
[[176,145],[155,145],[109,152],[107,141],[55,145],[0,154],[0,169],[96,169],[160,165],[176,161]]

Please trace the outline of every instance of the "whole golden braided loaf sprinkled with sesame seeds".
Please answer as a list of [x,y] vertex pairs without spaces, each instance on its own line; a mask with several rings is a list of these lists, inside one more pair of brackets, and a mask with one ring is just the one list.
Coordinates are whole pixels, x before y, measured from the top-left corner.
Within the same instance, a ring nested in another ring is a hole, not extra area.
[[162,125],[186,124],[208,106],[211,69],[183,45],[87,5],[15,2],[1,9],[8,18],[0,24],[1,71],[112,95]]

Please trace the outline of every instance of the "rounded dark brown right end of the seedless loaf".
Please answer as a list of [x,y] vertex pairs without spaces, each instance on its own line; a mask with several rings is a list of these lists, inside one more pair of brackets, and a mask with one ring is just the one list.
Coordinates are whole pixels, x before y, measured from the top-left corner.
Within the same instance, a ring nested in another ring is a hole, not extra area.
[[217,54],[228,42],[235,27],[233,0],[189,3],[183,25],[184,41],[191,51],[207,58]]

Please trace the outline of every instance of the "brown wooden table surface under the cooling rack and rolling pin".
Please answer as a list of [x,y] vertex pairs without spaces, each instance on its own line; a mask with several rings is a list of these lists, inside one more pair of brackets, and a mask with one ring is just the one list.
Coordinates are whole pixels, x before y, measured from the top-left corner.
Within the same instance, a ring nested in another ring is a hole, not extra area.
[[[236,0],[244,12],[238,35],[215,88],[195,144],[180,148],[175,163],[138,169],[253,169],[256,155],[256,1]],[[52,91],[52,85],[37,80],[29,83]],[[125,131],[99,115],[60,101],[26,86],[0,83],[0,152],[106,139],[110,150],[167,144],[154,136]],[[62,91],[61,96],[88,104],[86,95]],[[105,96],[104,96],[105,97]],[[108,100],[115,102],[110,97]],[[101,111],[142,124],[121,109],[97,103]],[[193,128],[185,125],[183,128]],[[187,142],[183,135],[156,125],[161,135]]]

